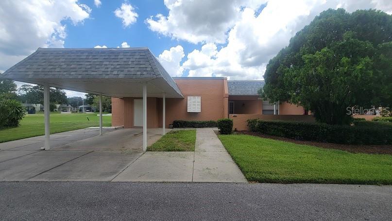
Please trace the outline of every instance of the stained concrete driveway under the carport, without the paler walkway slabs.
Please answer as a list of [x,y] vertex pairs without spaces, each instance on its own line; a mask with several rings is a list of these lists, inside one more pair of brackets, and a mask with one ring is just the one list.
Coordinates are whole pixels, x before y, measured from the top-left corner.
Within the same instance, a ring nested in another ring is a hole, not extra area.
[[[149,129],[148,143],[161,137]],[[79,129],[0,144],[0,181],[111,181],[142,155],[141,129]]]

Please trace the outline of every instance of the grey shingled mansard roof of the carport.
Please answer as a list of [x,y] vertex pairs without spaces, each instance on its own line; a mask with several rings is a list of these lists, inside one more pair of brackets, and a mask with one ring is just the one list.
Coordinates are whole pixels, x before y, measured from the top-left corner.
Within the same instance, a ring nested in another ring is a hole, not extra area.
[[163,78],[181,96],[177,84],[146,47],[38,48],[3,74],[7,79]]

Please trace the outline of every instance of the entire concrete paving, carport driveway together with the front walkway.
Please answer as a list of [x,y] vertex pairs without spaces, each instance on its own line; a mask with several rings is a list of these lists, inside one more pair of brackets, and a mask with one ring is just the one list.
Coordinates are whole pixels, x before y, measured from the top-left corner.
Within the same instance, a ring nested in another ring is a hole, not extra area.
[[[162,129],[148,129],[148,144]],[[143,152],[141,129],[80,129],[0,144],[0,181],[247,182],[212,129],[193,152]]]

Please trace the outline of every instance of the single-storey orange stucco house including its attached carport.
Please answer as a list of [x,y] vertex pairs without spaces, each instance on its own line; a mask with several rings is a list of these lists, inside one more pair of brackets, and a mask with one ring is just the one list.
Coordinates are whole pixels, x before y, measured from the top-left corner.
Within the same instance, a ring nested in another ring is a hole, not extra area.
[[[301,107],[287,103],[278,107],[277,104],[263,104],[257,97],[255,85],[251,91],[243,91],[238,86],[241,82],[229,83],[231,81],[226,77],[172,78],[146,47],[38,48],[0,77],[44,87],[45,149],[50,149],[50,87],[94,93],[99,95],[100,103],[102,95],[113,97],[112,125],[141,127],[143,150],[147,149],[147,128],[163,127],[164,134],[173,120],[227,117],[235,120],[264,116],[282,119],[282,116],[295,116],[282,114],[304,112]],[[229,84],[233,86],[230,90]],[[243,81],[241,84],[247,87],[250,83]],[[229,101],[232,103],[231,112]],[[275,107],[273,111],[271,105]],[[239,111],[244,114],[236,114]]]

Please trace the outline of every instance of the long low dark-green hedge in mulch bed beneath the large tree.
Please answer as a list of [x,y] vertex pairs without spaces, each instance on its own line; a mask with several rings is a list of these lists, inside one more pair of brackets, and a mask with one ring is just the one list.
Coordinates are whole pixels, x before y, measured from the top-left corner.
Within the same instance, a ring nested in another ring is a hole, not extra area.
[[337,144],[392,144],[392,125],[356,121],[354,126],[294,121],[248,120],[250,131],[297,140]]

